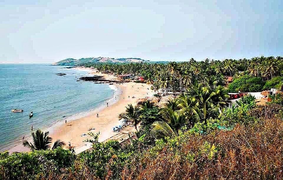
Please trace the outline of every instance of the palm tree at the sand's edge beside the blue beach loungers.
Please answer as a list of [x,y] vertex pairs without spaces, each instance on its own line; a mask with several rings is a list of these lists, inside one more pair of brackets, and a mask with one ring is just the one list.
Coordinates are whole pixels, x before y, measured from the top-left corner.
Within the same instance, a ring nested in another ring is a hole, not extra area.
[[119,120],[125,119],[127,121],[130,121],[136,128],[136,131],[138,131],[137,125],[139,124],[140,111],[137,106],[133,107],[132,104],[128,104],[128,107],[126,107],[126,112],[123,112],[119,114]]

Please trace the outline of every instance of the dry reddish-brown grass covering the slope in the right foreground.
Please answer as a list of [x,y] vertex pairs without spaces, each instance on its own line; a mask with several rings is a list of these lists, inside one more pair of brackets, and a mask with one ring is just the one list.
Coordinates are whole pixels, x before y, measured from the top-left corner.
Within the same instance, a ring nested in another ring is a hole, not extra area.
[[[149,152],[122,173],[123,180],[177,179],[283,179],[283,123],[268,119],[232,131],[188,136],[177,148],[165,147],[157,156]],[[205,143],[218,152],[209,158]],[[188,158],[194,154],[193,158]]]

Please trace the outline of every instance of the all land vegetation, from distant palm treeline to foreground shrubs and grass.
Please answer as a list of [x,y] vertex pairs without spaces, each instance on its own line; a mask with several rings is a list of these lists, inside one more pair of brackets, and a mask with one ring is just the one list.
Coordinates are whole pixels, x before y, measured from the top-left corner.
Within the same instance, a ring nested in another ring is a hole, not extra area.
[[[1,179],[283,178],[283,96],[271,96],[265,106],[253,96],[230,107],[226,102],[228,91],[281,89],[281,57],[84,66],[142,75],[159,96],[172,92],[174,98],[163,106],[128,105],[119,117],[136,127],[137,139],[129,145],[100,143],[92,134],[93,148],[79,155],[62,149],[60,141],[52,149],[3,152]],[[226,76],[233,76],[227,88]],[[34,145],[48,139],[38,133]]]

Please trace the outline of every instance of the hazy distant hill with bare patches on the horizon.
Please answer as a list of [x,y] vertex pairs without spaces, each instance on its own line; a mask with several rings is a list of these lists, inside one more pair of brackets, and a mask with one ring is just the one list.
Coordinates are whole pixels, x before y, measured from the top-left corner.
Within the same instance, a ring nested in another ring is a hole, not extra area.
[[149,60],[143,60],[140,58],[105,58],[105,57],[98,57],[98,58],[80,58],[80,59],[73,59],[68,58],[61,60],[57,63],[54,63],[54,65],[59,66],[78,66],[85,63],[152,63],[152,61]]

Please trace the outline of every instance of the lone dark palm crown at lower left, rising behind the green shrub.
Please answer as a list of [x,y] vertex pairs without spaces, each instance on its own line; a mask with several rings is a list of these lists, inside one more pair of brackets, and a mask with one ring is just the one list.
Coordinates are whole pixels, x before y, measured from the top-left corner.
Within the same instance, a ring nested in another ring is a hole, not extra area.
[[[27,140],[23,142],[25,147],[28,147],[31,150],[47,150],[50,149],[50,144],[52,143],[52,138],[48,136],[49,132],[42,132],[40,129],[36,130],[36,132],[32,132],[32,140],[33,144],[29,143]],[[60,141],[59,139],[55,141],[52,146],[52,150],[61,146],[64,146],[65,143]]]

